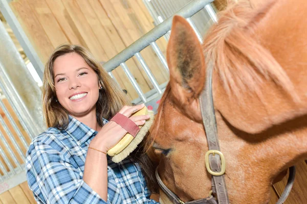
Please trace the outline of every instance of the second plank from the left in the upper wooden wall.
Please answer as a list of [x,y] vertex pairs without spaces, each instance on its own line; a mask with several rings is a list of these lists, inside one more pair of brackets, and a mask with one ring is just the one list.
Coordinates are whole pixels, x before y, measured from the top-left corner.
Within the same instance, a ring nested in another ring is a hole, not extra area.
[[60,44],[67,43],[68,39],[45,0],[31,0],[29,3],[34,15],[49,37],[51,44],[57,47]]

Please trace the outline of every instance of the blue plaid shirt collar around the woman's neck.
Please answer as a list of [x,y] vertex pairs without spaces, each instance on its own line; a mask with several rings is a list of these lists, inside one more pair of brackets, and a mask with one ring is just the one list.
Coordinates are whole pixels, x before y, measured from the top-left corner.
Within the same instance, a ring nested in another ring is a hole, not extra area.
[[[107,122],[108,121],[103,118],[103,124]],[[71,115],[69,115],[69,124],[64,131],[66,131],[79,146],[86,142],[90,137],[95,136],[98,133]]]

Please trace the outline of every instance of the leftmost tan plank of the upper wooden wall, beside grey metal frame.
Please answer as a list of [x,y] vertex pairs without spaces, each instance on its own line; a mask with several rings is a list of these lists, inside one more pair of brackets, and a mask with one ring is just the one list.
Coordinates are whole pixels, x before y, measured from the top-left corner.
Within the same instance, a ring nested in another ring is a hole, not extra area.
[[28,1],[12,1],[10,2],[10,7],[33,45],[37,55],[42,63],[45,63],[53,52],[54,46],[50,42],[46,32],[41,27],[41,24],[37,23],[38,19],[33,14],[33,10]]

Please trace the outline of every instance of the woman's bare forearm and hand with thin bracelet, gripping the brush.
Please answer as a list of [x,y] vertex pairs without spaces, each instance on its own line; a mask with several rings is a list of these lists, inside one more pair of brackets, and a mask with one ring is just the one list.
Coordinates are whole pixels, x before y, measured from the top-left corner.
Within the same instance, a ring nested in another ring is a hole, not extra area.
[[[130,117],[145,105],[123,107],[119,113]],[[143,125],[149,115],[132,116],[130,119],[138,126]],[[106,152],[115,146],[127,133],[123,127],[114,121],[105,124],[89,145],[87,151],[83,180],[93,188],[102,199],[107,199],[107,159]],[[92,149],[93,148],[93,149]]]

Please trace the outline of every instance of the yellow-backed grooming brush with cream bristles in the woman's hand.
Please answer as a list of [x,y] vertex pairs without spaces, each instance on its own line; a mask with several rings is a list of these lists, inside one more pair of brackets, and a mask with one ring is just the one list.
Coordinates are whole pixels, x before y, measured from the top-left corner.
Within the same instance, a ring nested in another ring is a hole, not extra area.
[[135,150],[138,144],[144,139],[146,133],[148,132],[152,122],[153,122],[153,112],[148,111],[146,107],[142,108],[133,115],[149,115],[150,118],[146,120],[145,124],[140,127],[140,131],[133,137],[127,133],[114,147],[107,151],[107,154],[112,157],[112,161],[119,163],[124,160],[129,154]]

